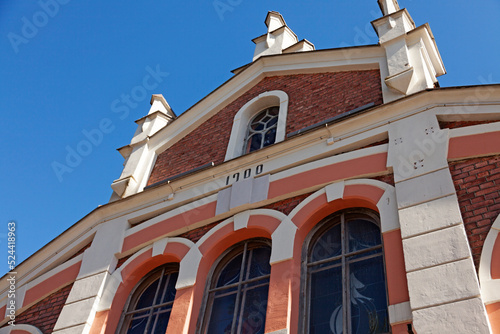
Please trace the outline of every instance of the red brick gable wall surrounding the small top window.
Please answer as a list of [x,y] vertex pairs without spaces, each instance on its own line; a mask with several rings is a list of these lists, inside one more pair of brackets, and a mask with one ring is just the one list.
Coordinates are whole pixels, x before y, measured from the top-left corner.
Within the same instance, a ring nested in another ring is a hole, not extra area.
[[271,90],[288,94],[287,133],[371,102],[383,103],[378,70],[267,77],[161,153],[148,185],[210,162],[222,163],[234,115],[255,96]]

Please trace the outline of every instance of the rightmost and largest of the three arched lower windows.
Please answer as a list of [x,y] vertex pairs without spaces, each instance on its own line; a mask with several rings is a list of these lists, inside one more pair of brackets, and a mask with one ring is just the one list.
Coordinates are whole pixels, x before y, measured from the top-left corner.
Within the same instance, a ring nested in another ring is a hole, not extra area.
[[304,333],[389,333],[382,237],[371,211],[329,216],[305,254]]

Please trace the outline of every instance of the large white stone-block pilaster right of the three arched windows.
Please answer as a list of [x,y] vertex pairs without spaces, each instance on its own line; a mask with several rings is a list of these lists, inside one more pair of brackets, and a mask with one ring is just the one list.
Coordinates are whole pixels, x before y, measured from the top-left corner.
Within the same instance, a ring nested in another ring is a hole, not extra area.
[[418,333],[490,333],[447,153],[433,116],[389,128],[413,324]]

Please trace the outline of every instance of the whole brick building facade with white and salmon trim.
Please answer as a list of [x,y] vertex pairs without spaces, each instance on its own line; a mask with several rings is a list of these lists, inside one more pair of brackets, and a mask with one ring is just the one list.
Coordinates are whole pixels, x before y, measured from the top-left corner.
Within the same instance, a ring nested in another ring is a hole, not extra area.
[[[137,120],[113,195],[18,267],[1,333],[500,333],[500,86],[440,88],[430,27],[253,61]],[[472,101],[472,102],[471,102]]]

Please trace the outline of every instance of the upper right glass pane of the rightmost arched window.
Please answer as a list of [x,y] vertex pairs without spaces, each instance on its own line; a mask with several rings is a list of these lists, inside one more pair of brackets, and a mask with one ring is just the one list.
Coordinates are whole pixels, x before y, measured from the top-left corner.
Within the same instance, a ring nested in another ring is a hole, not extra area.
[[381,243],[380,229],[366,219],[355,219],[347,222],[349,252],[378,246]]

